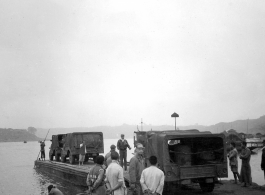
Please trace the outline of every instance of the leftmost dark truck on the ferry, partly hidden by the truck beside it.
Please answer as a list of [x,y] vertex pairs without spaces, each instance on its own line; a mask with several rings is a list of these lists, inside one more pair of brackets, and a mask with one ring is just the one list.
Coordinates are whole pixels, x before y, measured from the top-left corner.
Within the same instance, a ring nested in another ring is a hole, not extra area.
[[55,157],[56,161],[60,161],[65,137],[66,134],[58,134],[52,136],[51,139],[52,144],[49,151],[49,159],[51,161],[53,160],[53,157]]

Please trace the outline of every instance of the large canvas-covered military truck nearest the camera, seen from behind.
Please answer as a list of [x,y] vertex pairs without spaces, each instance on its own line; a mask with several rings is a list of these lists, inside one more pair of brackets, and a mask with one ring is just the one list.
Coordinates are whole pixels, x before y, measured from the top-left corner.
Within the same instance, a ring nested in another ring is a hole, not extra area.
[[164,194],[174,194],[182,184],[199,183],[211,192],[218,178],[228,177],[225,137],[198,130],[138,131],[134,145],[145,147],[145,166],[155,155],[165,174]]

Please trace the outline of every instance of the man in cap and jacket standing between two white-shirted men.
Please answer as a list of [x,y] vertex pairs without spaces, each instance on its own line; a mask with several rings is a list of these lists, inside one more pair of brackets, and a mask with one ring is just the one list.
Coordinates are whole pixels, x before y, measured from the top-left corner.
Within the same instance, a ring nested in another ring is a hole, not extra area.
[[143,159],[144,147],[138,143],[135,149],[135,155],[130,160],[129,176],[130,176],[130,188],[128,189],[128,195],[137,194],[142,195],[142,187],[140,184],[141,174],[144,169]]

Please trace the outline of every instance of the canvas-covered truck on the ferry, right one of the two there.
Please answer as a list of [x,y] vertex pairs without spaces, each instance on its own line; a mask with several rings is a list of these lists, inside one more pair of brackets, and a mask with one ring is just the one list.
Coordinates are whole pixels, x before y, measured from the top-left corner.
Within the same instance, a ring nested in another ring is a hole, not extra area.
[[61,161],[66,162],[66,158],[69,158],[70,164],[74,164],[75,160],[79,158],[80,144],[83,141],[86,145],[85,162],[87,162],[89,158],[95,161],[99,153],[104,153],[102,132],[68,133],[64,138]]

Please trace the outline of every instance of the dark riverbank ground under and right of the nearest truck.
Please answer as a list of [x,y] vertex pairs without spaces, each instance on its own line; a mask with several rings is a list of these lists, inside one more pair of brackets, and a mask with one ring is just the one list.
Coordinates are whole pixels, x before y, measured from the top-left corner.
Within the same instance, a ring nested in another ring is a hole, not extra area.
[[[215,185],[213,192],[207,193],[212,195],[262,195],[265,194],[265,185],[260,186],[253,183],[249,187],[242,187],[241,184],[234,184],[233,180],[222,180]],[[264,181],[265,183],[265,181]],[[184,186],[176,194],[192,195],[202,194],[199,185]]]

